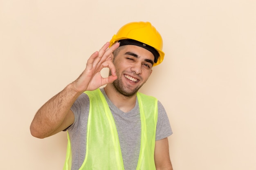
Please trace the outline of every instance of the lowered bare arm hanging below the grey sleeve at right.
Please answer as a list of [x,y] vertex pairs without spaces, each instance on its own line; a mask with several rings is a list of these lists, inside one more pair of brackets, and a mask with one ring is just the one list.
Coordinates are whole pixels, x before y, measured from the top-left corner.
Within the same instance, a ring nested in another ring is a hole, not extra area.
[[155,168],[157,170],[173,170],[167,137],[155,141]]

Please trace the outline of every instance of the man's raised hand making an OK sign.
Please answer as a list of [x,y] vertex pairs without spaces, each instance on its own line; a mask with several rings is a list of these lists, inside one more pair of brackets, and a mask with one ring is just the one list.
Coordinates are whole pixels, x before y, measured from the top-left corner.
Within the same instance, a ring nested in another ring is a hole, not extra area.
[[[117,79],[116,69],[112,63],[110,55],[119,47],[119,43],[115,43],[109,49],[107,42],[99,51],[93,53],[87,61],[86,68],[83,73],[73,82],[74,90],[83,93],[84,91],[93,91],[105,84],[112,83]],[[109,68],[111,75],[103,78],[101,70]]]

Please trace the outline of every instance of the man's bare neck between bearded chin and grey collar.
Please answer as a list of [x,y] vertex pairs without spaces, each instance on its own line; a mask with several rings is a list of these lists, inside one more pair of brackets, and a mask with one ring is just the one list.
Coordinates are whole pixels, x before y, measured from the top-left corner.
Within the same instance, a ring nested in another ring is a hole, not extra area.
[[104,91],[110,101],[123,112],[127,113],[135,107],[136,94],[132,96],[125,96],[117,92],[112,84],[107,84]]

